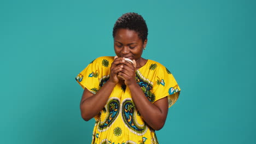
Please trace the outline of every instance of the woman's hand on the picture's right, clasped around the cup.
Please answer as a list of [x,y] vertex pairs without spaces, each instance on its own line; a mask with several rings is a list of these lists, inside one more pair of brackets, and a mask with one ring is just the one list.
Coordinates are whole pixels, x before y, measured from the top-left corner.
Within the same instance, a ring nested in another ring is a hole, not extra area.
[[123,63],[121,63],[121,65],[123,65],[123,68],[118,73],[118,77],[124,80],[126,86],[129,86],[132,83],[136,83],[136,79],[135,79],[136,61],[133,59],[132,62],[133,64],[127,61],[124,61]]

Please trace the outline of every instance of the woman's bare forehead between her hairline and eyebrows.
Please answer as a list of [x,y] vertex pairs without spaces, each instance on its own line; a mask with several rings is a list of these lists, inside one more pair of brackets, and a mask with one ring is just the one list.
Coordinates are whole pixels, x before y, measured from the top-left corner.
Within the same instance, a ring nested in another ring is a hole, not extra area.
[[138,43],[138,41],[140,41],[141,39],[138,37],[137,32],[130,29],[120,28],[115,33],[114,40],[121,43],[134,43],[135,41]]

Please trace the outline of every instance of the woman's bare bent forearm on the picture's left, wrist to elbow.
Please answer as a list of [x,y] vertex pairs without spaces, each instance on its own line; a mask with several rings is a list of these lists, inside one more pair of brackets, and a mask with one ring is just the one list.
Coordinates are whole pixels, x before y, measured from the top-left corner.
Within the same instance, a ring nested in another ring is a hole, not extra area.
[[112,93],[114,87],[115,83],[107,81],[96,94],[82,99],[80,103],[80,111],[85,121],[89,121],[100,113],[104,105],[106,105],[109,95]]

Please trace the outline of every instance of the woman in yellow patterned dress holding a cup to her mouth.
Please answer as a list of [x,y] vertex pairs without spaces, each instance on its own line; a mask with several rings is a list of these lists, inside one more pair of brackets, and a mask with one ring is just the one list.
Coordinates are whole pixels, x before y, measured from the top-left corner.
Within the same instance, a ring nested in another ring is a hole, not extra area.
[[96,58],[76,77],[84,88],[81,115],[96,119],[92,143],[158,143],[155,130],[180,89],[168,69],[141,57],[147,35],[141,15],[124,14],[113,28],[117,56]]

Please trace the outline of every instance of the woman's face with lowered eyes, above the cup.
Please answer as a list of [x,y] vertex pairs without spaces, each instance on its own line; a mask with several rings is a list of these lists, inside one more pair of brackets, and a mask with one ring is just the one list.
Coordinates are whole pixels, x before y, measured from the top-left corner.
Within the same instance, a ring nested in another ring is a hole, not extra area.
[[118,57],[135,59],[141,58],[143,47],[147,44],[147,39],[143,41],[138,37],[138,33],[129,29],[120,28],[115,33],[114,50]]

